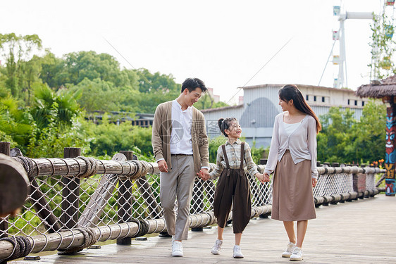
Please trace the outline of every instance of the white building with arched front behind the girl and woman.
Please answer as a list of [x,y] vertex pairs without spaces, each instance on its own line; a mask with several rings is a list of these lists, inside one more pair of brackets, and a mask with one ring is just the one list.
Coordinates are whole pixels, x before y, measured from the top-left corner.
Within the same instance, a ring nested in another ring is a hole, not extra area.
[[[219,118],[234,117],[240,121],[242,137],[250,146],[255,142],[256,147],[271,144],[273,121],[282,111],[278,105],[278,91],[284,84],[263,84],[243,89],[243,103],[237,106],[202,110],[206,118],[206,128],[209,137],[214,138],[220,134],[217,126]],[[355,96],[350,89],[337,89],[318,87],[313,85],[297,84],[299,90],[307,100],[316,115],[328,113],[330,107],[340,106],[342,110],[351,108],[354,118],[360,119],[364,103],[368,99]],[[241,101],[241,100],[240,100]]]

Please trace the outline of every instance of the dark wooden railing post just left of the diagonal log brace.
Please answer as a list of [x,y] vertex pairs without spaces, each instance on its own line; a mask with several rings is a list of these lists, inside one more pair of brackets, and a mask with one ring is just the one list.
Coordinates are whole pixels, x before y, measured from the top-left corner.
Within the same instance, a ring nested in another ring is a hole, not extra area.
[[[81,148],[63,149],[63,158],[76,158],[81,155]],[[80,206],[80,179],[78,177],[62,177],[62,215],[61,222],[65,228],[73,228],[78,222]]]

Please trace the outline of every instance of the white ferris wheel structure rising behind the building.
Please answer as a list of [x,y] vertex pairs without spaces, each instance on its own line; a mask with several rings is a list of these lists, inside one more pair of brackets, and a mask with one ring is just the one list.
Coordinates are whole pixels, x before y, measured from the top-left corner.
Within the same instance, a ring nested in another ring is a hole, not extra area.
[[[380,10],[380,13],[391,12],[390,17],[393,20],[395,0],[380,0],[380,2],[381,5],[383,6],[383,8],[381,8]],[[392,7],[392,8],[388,8],[388,7]],[[348,11],[343,11],[341,5],[335,5],[333,6],[333,15],[338,20],[338,29],[333,30],[333,46],[328,56],[328,61],[326,63],[326,66],[328,65],[329,62],[332,62],[333,65],[336,66],[335,68],[337,68],[337,70],[334,77],[333,87],[342,88],[342,87],[348,87],[347,61],[346,61],[346,53],[345,53],[345,21],[352,19],[373,20],[373,12],[348,12]],[[335,46],[339,46],[338,51],[335,51],[334,49]],[[373,52],[372,52],[373,54],[375,54],[375,49],[376,46],[373,45]],[[371,64],[375,65],[378,64],[378,60],[389,60],[390,58],[380,58],[380,56],[373,56],[372,59],[374,61],[372,61]],[[386,65],[386,63],[382,63],[382,64]],[[318,86],[321,83],[323,74],[326,70],[326,66],[323,69],[323,73],[321,75],[321,79],[319,80]],[[370,81],[372,80],[378,80],[378,73],[376,73],[376,71],[373,68],[371,68],[371,73],[370,73]]]

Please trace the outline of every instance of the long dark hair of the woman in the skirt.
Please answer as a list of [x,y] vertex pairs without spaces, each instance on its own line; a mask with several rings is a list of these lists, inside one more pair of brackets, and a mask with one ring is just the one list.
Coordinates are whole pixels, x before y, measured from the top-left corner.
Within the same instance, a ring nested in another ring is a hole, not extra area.
[[279,90],[279,98],[283,101],[290,101],[293,99],[293,103],[298,111],[306,113],[307,115],[311,115],[311,117],[315,118],[316,134],[322,130],[321,122],[312,110],[311,106],[309,106],[307,101],[305,101],[304,96],[302,96],[302,93],[299,91],[297,85],[286,84]]

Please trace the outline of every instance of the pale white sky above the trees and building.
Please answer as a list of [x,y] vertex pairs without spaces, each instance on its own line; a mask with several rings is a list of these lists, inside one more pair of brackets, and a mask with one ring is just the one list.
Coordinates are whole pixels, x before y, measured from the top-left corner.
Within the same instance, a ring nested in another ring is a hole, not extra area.
[[[235,103],[243,95],[238,87],[250,85],[333,87],[338,66],[328,57],[332,32],[339,28],[333,6],[341,6],[342,12],[379,13],[382,3],[2,0],[0,33],[38,34],[43,46],[58,57],[96,51],[114,56],[121,68],[171,74],[178,83],[198,77],[221,101]],[[387,8],[392,12],[392,7]],[[345,21],[350,89],[370,81],[371,23]],[[333,54],[339,54],[337,42]]]

